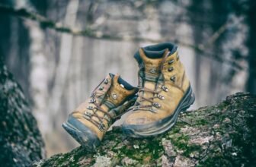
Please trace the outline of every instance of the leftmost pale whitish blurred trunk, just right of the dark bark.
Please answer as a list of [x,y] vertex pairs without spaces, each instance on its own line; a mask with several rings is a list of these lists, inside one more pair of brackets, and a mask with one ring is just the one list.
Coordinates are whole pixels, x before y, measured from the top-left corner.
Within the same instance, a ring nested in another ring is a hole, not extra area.
[[44,33],[38,24],[26,23],[30,34],[30,95],[33,111],[41,132],[48,130],[49,119],[46,115],[48,97],[47,57],[43,52]]

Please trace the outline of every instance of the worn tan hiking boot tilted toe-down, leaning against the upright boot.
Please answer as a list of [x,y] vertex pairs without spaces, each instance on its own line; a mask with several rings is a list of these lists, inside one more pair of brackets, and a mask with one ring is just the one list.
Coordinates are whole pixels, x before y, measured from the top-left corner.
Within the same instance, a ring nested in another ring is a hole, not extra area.
[[62,127],[86,150],[94,151],[110,125],[134,104],[136,92],[119,75],[108,74]]

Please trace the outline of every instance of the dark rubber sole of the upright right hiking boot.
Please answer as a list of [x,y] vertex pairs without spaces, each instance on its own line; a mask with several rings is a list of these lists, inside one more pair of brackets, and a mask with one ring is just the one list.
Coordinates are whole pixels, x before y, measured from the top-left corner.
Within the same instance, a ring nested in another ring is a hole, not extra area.
[[134,138],[145,138],[163,134],[174,126],[178,115],[181,112],[185,112],[194,103],[194,100],[194,93],[192,88],[189,87],[178,107],[175,109],[174,114],[149,124],[123,124],[123,133]]

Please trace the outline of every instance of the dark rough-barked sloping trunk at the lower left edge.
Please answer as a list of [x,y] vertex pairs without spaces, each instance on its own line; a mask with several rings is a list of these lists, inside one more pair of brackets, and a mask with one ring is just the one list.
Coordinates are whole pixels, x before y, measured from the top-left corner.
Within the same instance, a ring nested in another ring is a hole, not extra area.
[[0,166],[29,166],[45,157],[37,121],[0,57]]

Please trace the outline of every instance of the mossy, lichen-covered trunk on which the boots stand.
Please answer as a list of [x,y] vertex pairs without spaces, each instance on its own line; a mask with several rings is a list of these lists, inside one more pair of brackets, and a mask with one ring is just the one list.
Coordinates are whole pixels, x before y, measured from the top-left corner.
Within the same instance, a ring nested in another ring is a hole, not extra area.
[[168,133],[148,139],[108,131],[96,153],[78,147],[34,166],[252,166],[256,96],[236,93],[216,106],[184,112]]

